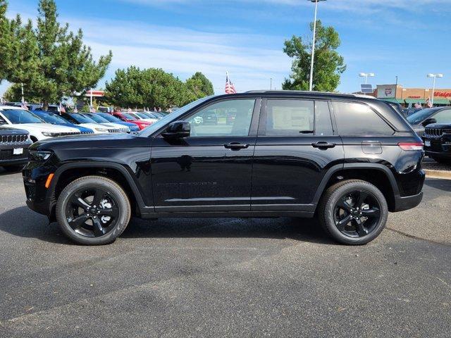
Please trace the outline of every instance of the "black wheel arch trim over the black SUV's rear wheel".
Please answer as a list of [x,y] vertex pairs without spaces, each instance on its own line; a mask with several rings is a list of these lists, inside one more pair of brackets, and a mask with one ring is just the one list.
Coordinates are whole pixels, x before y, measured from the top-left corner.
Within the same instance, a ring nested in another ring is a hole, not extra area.
[[395,176],[387,166],[379,163],[345,163],[335,165],[324,175],[314,196],[313,204],[317,205],[326,189],[342,180],[364,180],[375,185],[387,200],[388,210],[395,211],[396,197],[400,196]]

